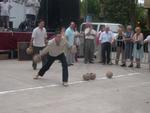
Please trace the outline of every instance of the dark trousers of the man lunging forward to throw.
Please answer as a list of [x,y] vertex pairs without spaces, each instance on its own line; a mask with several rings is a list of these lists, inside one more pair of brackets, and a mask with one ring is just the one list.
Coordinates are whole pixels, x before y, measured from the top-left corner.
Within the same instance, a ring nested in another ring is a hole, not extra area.
[[66,61],[66,57],[64,55],[64,53],[56,56],[56,57],[53,57],[53,56],[50,56],[48,55],[47,57],[47,63],[40,69],[38,75],[40,76],[44,76],[45,72],[47,70],[49,70],[49,68],[51,67],[51,65],[53,64],[53,62],[55,60],[60,60],[61,64],[62,64],[62,75],[63,75],[63,82],[68,82],[68,64],[67,64],[67,61]]

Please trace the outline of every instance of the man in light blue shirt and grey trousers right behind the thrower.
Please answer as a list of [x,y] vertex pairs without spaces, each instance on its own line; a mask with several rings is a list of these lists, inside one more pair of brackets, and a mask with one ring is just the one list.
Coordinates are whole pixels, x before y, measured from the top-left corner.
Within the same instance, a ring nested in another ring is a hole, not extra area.
[[74,46],[74,38],[75,38],[75,23],[71,22],[70,26],[65,31],[65,37],[67,39],[67,47],[66,47],[66,58],[68,66],[71,66],[75,62],[75,54],[72,53],[72,48]]

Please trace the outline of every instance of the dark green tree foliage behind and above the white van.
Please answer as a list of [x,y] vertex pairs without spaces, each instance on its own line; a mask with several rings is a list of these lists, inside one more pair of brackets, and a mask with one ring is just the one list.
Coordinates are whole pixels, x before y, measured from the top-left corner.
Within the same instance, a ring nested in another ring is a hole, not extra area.
[[81,15],[86,14],[91,14],[94,21],[116,22],[124,25],[135,25],[137,20],[142,21],[145,18],[144,8],[137,5],[137,0],[83,0]]

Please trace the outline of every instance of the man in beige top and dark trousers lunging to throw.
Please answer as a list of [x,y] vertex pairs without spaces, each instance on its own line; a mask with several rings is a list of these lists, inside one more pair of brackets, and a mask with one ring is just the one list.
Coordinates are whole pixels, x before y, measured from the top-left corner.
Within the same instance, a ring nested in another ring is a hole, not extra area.
[[48,45],[40,52],[37,57],[42,57],[48,53],[46,64],[40,69],[38,74],[33,79],[43,77],[45,72],[49,70],[55,60],[60,60],[62,63],[62,81],[64,86],[68,86],[68,64],[64,54],[67,40],[63,35],[56,35],[52,40],[48,42]]

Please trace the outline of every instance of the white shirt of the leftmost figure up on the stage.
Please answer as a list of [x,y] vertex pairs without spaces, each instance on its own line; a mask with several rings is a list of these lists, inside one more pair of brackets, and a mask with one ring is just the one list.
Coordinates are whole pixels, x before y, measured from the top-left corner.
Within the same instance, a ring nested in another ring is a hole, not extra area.
[[9,16],[10,15],[10,8],[12,5],[9,2],[0,2],[1,7],[1,16]]

